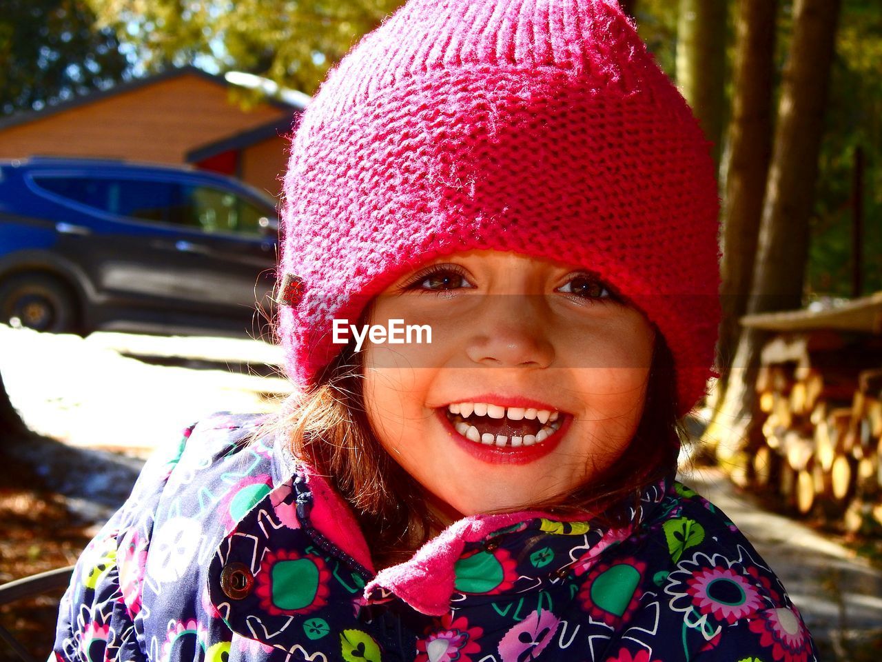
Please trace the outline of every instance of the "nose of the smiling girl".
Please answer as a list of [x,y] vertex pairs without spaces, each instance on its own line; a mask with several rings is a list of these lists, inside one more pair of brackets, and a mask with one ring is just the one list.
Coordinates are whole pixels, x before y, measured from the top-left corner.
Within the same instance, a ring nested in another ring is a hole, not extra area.
[[554,361],[554,345],[544,320],[544,298],[530,295],[488,297],[475,319],[475,334],[466,345],[467,356],[488,367],[547,368]]

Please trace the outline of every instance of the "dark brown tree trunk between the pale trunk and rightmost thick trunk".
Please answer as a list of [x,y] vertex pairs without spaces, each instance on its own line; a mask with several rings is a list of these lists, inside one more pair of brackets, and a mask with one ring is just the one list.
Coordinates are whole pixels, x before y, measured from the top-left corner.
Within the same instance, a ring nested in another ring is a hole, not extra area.
[[729,154],[723,166],[722,320],[717,357],[725,383],[751,292],[759,219],[772,155],[772,90],[777,0],[742,0],[736,16],[736,58]]

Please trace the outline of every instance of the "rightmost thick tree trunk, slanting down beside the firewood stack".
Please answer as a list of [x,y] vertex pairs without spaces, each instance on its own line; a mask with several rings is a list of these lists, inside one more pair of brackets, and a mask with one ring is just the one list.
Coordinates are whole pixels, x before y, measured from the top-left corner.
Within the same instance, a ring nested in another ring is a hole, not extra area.
[[[818,177],[827,88],[841,0],[796,0],[793,42],[784,71],[774,153],[759,226],[749,314],[802,306],[809,219]],[[738,342],[722,406],[708,431],[722,461],[759,436],[752,414],[759,351],[768,332],[745,328]]]

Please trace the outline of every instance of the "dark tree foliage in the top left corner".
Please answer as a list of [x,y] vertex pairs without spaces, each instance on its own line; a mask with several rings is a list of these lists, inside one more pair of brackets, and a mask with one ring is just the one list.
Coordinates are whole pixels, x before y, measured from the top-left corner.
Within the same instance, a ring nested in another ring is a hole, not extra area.
[[85,0],[3,0],[0,115],[41,109],[123,79],[129,63]]

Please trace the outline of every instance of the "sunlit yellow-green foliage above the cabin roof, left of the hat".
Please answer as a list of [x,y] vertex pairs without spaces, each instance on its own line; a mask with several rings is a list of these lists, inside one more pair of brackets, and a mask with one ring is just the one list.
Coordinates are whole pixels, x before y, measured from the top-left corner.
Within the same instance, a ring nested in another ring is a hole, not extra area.
[[88,0],[147,70],[203,64],[313,94],[403,0]]

